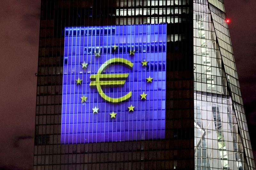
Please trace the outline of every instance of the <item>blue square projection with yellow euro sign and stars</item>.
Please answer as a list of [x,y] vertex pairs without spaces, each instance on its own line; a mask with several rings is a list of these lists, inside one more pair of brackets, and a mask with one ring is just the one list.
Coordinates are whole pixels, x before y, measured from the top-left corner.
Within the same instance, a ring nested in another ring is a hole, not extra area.
[[61,143],[164,139],[166,24],[66,27]]

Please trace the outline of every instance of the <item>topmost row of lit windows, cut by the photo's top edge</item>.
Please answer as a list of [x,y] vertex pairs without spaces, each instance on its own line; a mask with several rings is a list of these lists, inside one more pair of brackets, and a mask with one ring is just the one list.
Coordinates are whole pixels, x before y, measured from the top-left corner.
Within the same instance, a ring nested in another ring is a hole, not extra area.
[[[120,5],[119,5],[120,3]],[[117,0],[116,6],[162,6],[162,5],[188,5],[189,0]]]

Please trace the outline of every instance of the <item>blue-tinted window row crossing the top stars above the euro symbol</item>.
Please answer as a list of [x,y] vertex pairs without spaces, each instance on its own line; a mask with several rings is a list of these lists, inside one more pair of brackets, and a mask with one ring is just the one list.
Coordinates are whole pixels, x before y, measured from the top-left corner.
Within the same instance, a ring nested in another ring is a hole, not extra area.
[[108,46],[108,47],[84,47],[84,54],[110,54],[110,53],[130,53],[130,52],[162,52],[165,51],[165,44],[156,45],[135,45],[135,46]]

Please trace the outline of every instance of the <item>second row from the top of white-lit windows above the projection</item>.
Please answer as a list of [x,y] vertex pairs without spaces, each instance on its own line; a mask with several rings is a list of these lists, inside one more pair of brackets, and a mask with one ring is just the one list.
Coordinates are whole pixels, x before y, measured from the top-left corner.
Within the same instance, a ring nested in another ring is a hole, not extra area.
[[148,9],[117,9],[116,16],[131,16],[131,15],[165,15],[165,14],[181,14],[189,13],[189,8],[148,8]]

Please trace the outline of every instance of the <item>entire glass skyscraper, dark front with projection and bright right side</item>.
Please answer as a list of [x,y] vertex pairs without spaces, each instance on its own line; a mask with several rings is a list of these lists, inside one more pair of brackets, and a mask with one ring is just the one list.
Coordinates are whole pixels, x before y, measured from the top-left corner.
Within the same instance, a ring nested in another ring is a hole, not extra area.
[[42,0],[34,169],[255,169],[223,0]]

